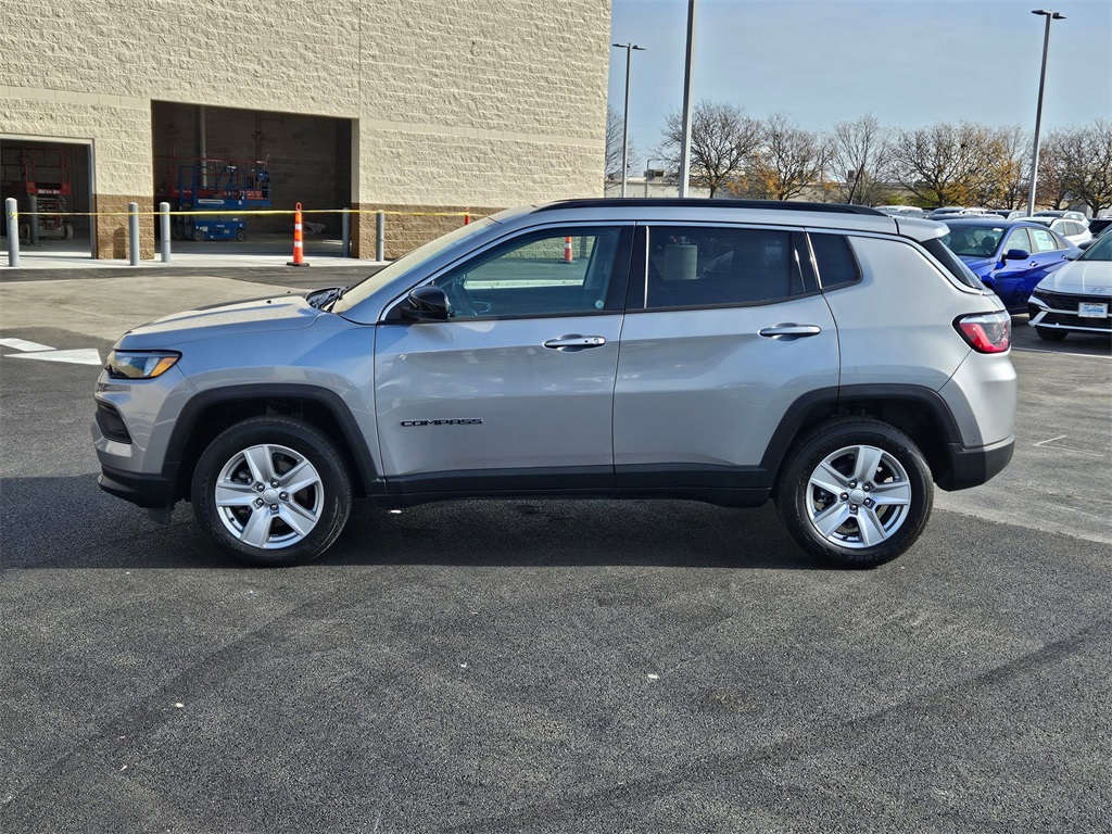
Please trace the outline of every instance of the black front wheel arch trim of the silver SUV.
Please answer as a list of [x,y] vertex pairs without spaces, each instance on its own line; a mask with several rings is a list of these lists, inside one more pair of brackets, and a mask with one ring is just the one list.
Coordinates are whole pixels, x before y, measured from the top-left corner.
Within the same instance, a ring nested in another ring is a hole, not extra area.
[[163,467],[163,476],[173,484],[175,498],[188,499],[197,461],[217,435],[236,423],[266,414],[299,417],[325,431],[357,476],[353,493],[363,497],[378,492],[380,479],[370,449],[338,395],[317,386],[264,384],[202,391],[181,409]]

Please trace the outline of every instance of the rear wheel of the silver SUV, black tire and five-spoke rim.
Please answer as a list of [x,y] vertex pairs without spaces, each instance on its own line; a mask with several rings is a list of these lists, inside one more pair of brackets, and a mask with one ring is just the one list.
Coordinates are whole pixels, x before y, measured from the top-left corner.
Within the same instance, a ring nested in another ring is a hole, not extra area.
[[823,424],[798,441],[781,469],[775,497],[804,550],[838,567],[870,568],[915,543],[931,515],[934,484],[907,435],[880,420],[850,417]]

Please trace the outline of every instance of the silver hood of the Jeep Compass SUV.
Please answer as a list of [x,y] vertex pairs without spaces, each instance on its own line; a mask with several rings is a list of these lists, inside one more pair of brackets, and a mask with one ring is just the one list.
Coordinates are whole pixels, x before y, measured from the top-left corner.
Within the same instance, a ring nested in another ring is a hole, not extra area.
[[302,295],[256,298],[163,316],[128,330],[120,337],[119,346],[132,350],[172,348],[197,339],[300,330],[327,315]]

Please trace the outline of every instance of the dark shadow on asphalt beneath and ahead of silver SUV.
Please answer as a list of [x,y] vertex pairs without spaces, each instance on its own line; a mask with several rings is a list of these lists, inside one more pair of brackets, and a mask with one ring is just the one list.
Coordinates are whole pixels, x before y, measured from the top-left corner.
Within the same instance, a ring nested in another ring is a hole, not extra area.
[[[189,504],[169,527],[101,492],[95,475],[0,480],[6,568],[236,568],[202,536]],[[823,569],[772,505],[726,509],[672,500],[486,500],[391,513],[357,502],[320,565],[466,565]]]

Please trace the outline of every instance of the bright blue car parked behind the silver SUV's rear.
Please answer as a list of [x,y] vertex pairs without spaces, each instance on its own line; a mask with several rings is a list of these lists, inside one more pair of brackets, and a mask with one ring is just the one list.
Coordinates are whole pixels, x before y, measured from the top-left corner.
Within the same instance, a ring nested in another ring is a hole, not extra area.
[[1039,281],[1064,267],[1081,250],[1041,224],[1030,220],[962,217],[946,220],[942,238],[976,277],[1007,307],[1026,312]]

